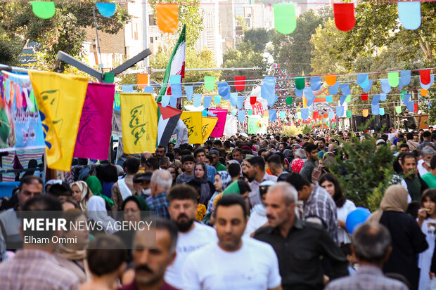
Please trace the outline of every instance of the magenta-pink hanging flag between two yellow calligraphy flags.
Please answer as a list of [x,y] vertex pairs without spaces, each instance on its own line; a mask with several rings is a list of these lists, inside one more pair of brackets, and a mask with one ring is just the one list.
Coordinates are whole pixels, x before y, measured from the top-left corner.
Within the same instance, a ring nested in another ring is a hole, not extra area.
[[74,157],[108,160],[115,84],[88,84]]

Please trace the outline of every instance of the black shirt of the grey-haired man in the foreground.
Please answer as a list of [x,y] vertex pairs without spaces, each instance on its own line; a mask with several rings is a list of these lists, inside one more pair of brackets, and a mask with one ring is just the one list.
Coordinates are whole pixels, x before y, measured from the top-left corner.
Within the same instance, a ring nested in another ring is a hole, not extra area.
[[331,262],[331,279],[348,275],[347,258],[321,225],[296,218],[286,238],[271,227],[259,228],[254,237],[274,248],[283,290],[323,289],[321,256]]

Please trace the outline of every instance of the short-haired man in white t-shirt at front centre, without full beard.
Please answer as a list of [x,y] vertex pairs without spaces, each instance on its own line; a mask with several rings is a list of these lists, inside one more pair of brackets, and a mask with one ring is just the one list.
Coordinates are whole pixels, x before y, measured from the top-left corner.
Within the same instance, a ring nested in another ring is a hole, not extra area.
[[219,242],[191,253],[182,268],[184,290],[281,290],[278,260],[269,244],[241,237],[247,209],[239,195],[219,200],[215,228]]

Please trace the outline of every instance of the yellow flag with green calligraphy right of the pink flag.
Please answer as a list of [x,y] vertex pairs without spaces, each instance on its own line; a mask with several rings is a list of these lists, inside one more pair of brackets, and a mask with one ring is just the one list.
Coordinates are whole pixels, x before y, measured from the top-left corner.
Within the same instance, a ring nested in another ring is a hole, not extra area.
[[151,93],[120,93],[124,152],[136,154],[156,150],[158,104]]

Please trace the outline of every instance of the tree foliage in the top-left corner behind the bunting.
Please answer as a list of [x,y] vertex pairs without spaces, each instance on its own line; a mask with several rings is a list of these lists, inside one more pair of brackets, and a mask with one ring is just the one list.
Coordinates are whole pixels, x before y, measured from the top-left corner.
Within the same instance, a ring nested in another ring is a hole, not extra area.
[[[10,44],[11,48],[0,51],[0,59],[7,64],[15,65],[18,54],[27,41],[36,41],[40,45],[39,50],[46,66],[51,70],[63,72],[65,63],[56,61],[56,54],[58,51],[65,51],[72,56],[80,56],[85,39],[84,28],[94,27],[93,8],[96,8],[96,5],[91,0],[60,1],[56,2],[55,15],[44,20],[34,15],[30,3],[1,2],[0,47]],[[96,19],[98,29],[115,34],[124,27],[130,16],[125,8],[117,5],[115,15],[105,18],[96,11]]]

